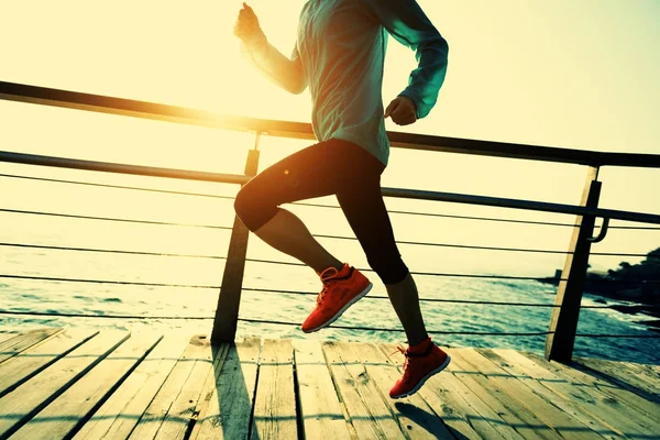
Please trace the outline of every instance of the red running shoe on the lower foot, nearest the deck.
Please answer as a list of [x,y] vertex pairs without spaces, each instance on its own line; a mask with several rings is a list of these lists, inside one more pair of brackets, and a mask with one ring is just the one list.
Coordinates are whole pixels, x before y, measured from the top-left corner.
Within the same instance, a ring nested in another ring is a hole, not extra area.
[[410,349],[404,350],[402,346],[397,349],[406,356],[406,362],[404,362],[404,376],[389,391],[392,398],[407,397],[417,393],[429,377],[440,373],[451,362],[449,354],[432,342],[424,353],[419,354],[410,352]]

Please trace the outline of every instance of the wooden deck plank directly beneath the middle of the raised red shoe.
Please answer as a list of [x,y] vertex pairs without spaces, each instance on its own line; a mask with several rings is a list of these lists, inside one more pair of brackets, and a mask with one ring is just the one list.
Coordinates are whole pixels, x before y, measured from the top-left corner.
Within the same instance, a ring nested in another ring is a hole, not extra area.
[[[348,342],[322,345],[334,386],[359,438],[398,439],[404,435],[384,397]],[[389,397],[387,397],[389,398]]]

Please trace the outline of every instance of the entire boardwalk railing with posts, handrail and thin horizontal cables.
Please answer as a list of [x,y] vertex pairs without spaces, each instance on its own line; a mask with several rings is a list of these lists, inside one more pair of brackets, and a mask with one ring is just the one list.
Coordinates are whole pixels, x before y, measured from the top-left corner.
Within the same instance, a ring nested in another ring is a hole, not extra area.
[[[256,173],[258,162],[258,139],[262,134],[268,134],[274,136],[285,136],[294,139],[307,139],[312,140],[314,134],[311,127],[306,123],[299,122],[287,122],[287,121],[273,121],[273,120],[258,120],[251,118],[239,118],[239,117],[220,117],[213,113],[197,111],[188,108],[180,108],[174,106],[156,105],[151,102],[135,101],[121,98],[111,98],[97,95],[57,90],[50,88],[42,88],[35,86],[26,86],[12,82],[0,81],[0,99],[31,102],[38,105],[47,105],[70,109],[78,109],[85,111],[96,111],[112,114],[130,116],[143,119],[156,119],[164,120],[175,123],[193,124],[210,127],[223,130],[233,131],[245,131],[253,132],[256,135],[255,148],[250,151],[248,163],[245,166],[245,173],[243,175],[234,174],[217,174],[217,173],[202,173],[186,169],[172,169],[172,168],[160,168],[150,166],[135,166],[127,164],[111,164],[95,161],[81,161],[74,158],[64,157],[51,157],[41,156],[33,154],[22,154],[15,152],[0,152],[0,162],[7,163],[20,163],[31,164],[38,166],[51,166],[70,169],[86,169],[105,173],[119,173],[119,174],[131,174],[142,176],[155,176],[155,177],[167,177],[177,179],[189,179],[189,180],[201,180],[201,182],[215,182],[215,183],[229,183],[229,184],[245,184],[251,176]],[[602,209],[598,208],[598,197],[601,191],[602,183],[597,180],[597,174],[601,166],[626,166],[626,167],[652,167],[660,168],[660,155],[649,154],[628,154],[628,153],[602,153],[602,152],[586,152],[576,151],[569,148],[557,148],[535,145],[522,145],[513,143],[499,143],[499,142],[487,142],[487,141],[474,141],[463,140],[453,138],[442,136],[429,136],[420,134],[409,133],[397,133],[389,132],[388,136],[394,147],[425,150],[433,152],[444,153],[459,153],[459,154],[471,154],[471,155],[487,155],[494,157],[508,157],[508,158],[520,158],[531,161],[543,161],[554,162],[564,164],[579,164],[586,165],[588,167],[586,186],[582,202],[578,206],[562,205],[562,204],[549,204],[530,200],[518,200],[509,198],[497,198],[497,197],[485,197],[465,194],[451,194],[440,191],[429,191],[422,189],[402,189],[402,188],[383,188],[383,195],[386,197],[408,198],[418,200],[435,200],[435,201],[449,201],[458,204],[470,204],[479,206],[498,207],[498,208],[510,208],[510,209],[524,209],[541,212],[553,212],[576,216],[574,224],[568,223],[556,223],[556,222],[534,222],[522,221],[506,218],[476,218],[465,216],[446,216],[435,213],[420,213],[420,212],[403,212],[407,215],[427,215],[438,217],[450,217],[450,218],[462,218],[473,219],[481,221],[503,221],[503,222],[525,222],[536,223],[546,226],[560,226],[560,227],[572,227],[573,238],[571,240],[568,251],[553,251],[553,250],[531,250],[531,249],[512,249],[512,248],[487,248],[487,246],[469,246],[461,244],[451,243],[419,243],[419,242],[406,242],[407,244],[416,245],[431,245],[431,246],[457,246],[464,249],[482,249],[491,251],[508,251],[508,252],[539,252],[539,253],[563,253],[565,254],[565,264],[562,274],[562,278],[559,279],[559,289],[554,305],[544,304],[515,304],[515,302],[497,302],[497,301],[470,301],[470,300],[443,300],[443,299],[431,299],[421,298],[426,301],[453,301],[453,302],[465,302],[465,304],[488,304],[488,305],[508,305],[508,306],[525,306],[525,307],[551,307],[552,316],[548,331],[541,332],[528,332],[528,333],[510,333],[510,336],[546,336],[546,358],[559,361],[569,361],[572,356],[572,350],[574,339],[576,336],[576,323],[578,315],[581,308],[582,292],[585,283],[585,274],[587,267],[587,260],[591,252],[591,244],[593,242],[601,241],[605,238],[608,228],[638,228],[638,229],[660,229],[658,227],[640,226],[640,227],[609,227],[609,220],[623,220],[630,222],[660,224],[660,216],[644,212],[629,212],[614,209]],[[16,175],[2,175],[6,178],[32,178]],[[45,179],[37,178],[46,182],[58,182],[63,184],[79,184],[79,185],[95,185],[95,186],[109,186],[123,189],[134,190],[146,190],[146,191],[165,191],[172,194],[182,194],[189,196],[201,196],[201,197],[224,197],[215,196],[199,193],[185,193],[185,191],[167,191],[153,188],[136,188],[118,185],[102,185],[97,183],[81,183],[62,179]],[[227,197],[224,197],[227,198]],[[316,204],[299,205],[319,206]],[[327,206],[323,206],[327,207]],[[333,208],[333,207],[327,207]],[[12,211],[8,209],[1,209],[0,211]],[[67,212],[42,212],[42,211],[16,211],[14,213],[30,213],[40,216],[59,216],[59,217],[75,217],[79,219],[88,220],[108,220],[108,221],[129,221],[129,222],[144,222],[151,224],[174,224],[167,222],[157,222],[152,220],[138,220],[138,219],[114,219],[114,218],[101,218],[94,216],[74,216]],[[596,218],[603,219],[603,226],[601,227],[601,233],[598,237],[593,237],[594,223]],[[190,224],[187,224],[190,226]],[[212,340],[213,341],[231,341],[234,339],[237,331],[237,322],[241,321],[255,321],[250,318],[239,318],[239,305],[242,290],[253,290],[261,294],[270,294],[274,292],[283,290],[268,290],[268,289],[255,289],[250,287],[243,287],[243,271],[245,262],[261,262],[261,263],[274,263],[274,264],[295,264],[285,262],[272,262],[272,261],[257,261],[253,258],[246,258],[248,237],[249,232],[240,222],[234,219],[233,226],[209,226],[209,224],[194,224],[195,227],[201,228],[216,228],[231,230],[231,241],[229,252],[227,256],[200,256],[200,255],[183,255],[178,256],[196,256],[196,257],[215,257],[226,260],[226,270],[221,286],[190,286],[185,287],[199,287],[199,288],[220,288],[218,307],[216,310]],[[351,240],[346,237],[337,235],[318,235],[324,238],[332,238],[339,240]],[[40,248],[36,244],[30,243],[0,243],[0,246],[24,246],[24,248]],[[147,251],[118,251],[118,250],[105,250],[105,249],[88,249],[88,248],[75,248],[75,246],[46,246],[51,250],[57,251],[88,251],[88,252],[114,252],[114,253],[132,253],[132,254],[150,254]],[[596,254],[596,253],[594,253]],[[602,253],[604,254],[604,253]],[[606,253],[607,255],[622,255],[622,256],[641,256],[639,254],[614,254]],[[162,255],[162,254],[160,254]],[[365,268],[367,270],[367,268]],[[440,273],[415,273],[417,275],[433,275],[433,276],[453,276],[453,277],[484,277],[484,278],[499,278],[499,279],[536,279],[534,277],[516,277],[516,276],[491,276],[491,275],[472,275],[472,274],[440,274]],[[119,283],[129,285],[148,285],[148,286],[174,286],[158,283],[125,283],[109,279],[75,279],[75,278],[55,278],[55,277],[42,277],[42,276],[16,276],[11,274],[0,274],[0,277],[14,277],[23,279],[42,279],[42,280],[65,280],[76,283]],[[316,295],[315,293],[304,292],[288,292],[300,295]],[[386,297],[369,296],[367,298],[373,299],[385,299]],[[584,306],[583,306],[584,307]],[[591,308],[606,308],[608,306],[590,306]],[[12,311],[0,311],[0,314],[14,314],[14,315],[48,315],[30,311],[12,312]],[[72,317],[87,317],[84,314],[61,314],[63,316]],[[112,316],[99,316],[109,318]],[[128,316],[116,316],[117,318],[130,318]],[[145,317],[140,317],[145,318]],[[154,319],[211,319],[211,317],[152,317]],[[294,324],[294,322],[287,321],[263,321],[274,324]],[[334,328],[348,328],[345,326],[333,326]],[[351,328],[352,329],[352,328]],[[400,331],[400,329],[386,329],[386,328],[362,328],[377,331]],[[433,331],[432,333],[447,333],[446,331]],[[457,332],[452,332],[457,333]],[[459,332],[460,333],[460,332]],[[493,334],[492,332],[466,332],[471,334]],[[502,334],[502,333],[497,333]],[[625,334],[579,334],[583,337],[627,337]]]

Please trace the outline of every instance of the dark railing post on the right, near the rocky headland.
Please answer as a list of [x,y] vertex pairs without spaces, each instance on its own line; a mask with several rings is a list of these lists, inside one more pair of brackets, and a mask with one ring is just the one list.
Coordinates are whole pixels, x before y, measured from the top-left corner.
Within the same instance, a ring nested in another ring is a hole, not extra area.
[[[581,206],[597,208],[601,196],[598,168],[590,167]],[[594,233],[595,218],[578,216],[571,238],[569,253],[559,282],[554,308],[550,318],[549,333],[546,339],[546,359],[569,363],[573,355],[580,302],[584,292],[584,280]]]

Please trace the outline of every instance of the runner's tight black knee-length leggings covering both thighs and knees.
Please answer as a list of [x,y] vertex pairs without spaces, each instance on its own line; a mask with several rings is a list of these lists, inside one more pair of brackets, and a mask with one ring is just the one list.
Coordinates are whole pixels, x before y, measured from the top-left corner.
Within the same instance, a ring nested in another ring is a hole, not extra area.
[[384,284],[408,275],[394,241],[381,193],[385,165],[359,145],[329,140],[311,145],[264,169],[238,194],[235,210],[256,231],[283,204],[334,194],[360,241],[370,266]]

